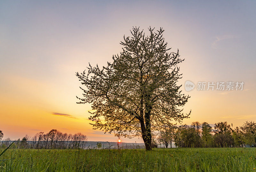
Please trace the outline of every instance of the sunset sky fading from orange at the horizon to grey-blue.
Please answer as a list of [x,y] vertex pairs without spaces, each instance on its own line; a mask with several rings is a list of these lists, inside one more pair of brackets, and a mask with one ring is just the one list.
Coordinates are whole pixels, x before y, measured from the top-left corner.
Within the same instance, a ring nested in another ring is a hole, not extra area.
[[76,104],[75,72],[111,62],[132,26],[164,28],[168,47],[185,58],[180,84],[244,82],[242,91],[182,86],[191,96],[182,124],[255,121],[255,9],[256,1],[1,1],[0,130],[11,139],[58,129],[116,141],[92,130],[90,104]]

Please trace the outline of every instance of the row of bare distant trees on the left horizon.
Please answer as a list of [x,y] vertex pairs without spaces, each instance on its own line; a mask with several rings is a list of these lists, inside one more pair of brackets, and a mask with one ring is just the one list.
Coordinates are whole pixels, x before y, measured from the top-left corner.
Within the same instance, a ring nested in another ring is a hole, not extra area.
[[[3,137],[0,131],[0,140]],[[38,132],[34,137],[24,136],[12,144],[13,148],[18,149],[78,149],[84,148],[87,142],[87,136],[82,133],[67,134],[56,129],[52,129],[48,133]],[[1,141],[0,147],[8,147],[12,143],[10,138]]]

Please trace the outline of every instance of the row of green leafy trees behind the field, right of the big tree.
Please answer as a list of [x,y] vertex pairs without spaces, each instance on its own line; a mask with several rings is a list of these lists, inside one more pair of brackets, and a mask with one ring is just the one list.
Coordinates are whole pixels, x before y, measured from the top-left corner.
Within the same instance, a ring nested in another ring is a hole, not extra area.
[[246,121],[234,129],[233,124],[230,126],[227,122],[215,123],[214,127],[206,122],[169,125],[159,131],[154,142],[162,143],[165,147],[173,142],[177,147],[241,147],[243,144],[255,147],[256,123]]

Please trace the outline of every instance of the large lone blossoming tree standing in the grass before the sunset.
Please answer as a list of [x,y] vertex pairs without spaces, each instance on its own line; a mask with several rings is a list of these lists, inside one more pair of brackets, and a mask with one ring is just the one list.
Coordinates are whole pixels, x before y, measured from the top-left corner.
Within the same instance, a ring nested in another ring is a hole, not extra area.
[[[170,122],[180,122],[190,114],[180,109],[189,96],[179,90],[181,78],[177,66],[184,59],[169,52],[163,32],[149,27],[148,36],[133,27],[131,37],[120,44],[124,47],[113,62],[102,69],[89,64],[87,72],[76,76],[81,81],[83,98],[77,103],[92,103],[89,118],[94,129],[114,132],[117,137],[141,136],[146,150],[151,150],[151,132]],[[104,123],[99,120],[104,118]]]

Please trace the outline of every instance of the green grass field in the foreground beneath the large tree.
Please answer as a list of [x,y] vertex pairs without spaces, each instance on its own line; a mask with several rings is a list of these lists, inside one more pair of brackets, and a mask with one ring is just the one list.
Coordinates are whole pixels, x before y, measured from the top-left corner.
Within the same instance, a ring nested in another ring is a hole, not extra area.
[[255,158],[256,148],[158,148],[148,152],[143,149],[10,149],[0,157],[0,170],[255,171]]

